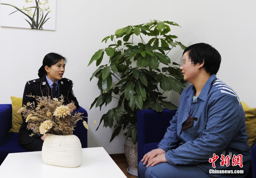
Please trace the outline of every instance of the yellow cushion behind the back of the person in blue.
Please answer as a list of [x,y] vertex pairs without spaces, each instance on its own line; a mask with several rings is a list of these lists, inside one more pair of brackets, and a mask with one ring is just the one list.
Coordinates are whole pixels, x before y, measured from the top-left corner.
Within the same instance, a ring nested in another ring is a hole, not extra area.
[[245,111],[246,132],[248,134],[248,143],[252,147],[256,139],[256,108],[250,108],[245,102],[241,102]]

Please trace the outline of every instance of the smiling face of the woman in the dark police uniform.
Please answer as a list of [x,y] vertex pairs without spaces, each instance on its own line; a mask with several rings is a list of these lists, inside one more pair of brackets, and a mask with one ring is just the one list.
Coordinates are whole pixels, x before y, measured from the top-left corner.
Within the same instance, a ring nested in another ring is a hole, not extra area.
[[53,64],[51,67],[45,66],[47,72],[47,77],[53,82],[56,80],[61,80],[65,72],[65,62],[63,59],[58,61],[56,64]]

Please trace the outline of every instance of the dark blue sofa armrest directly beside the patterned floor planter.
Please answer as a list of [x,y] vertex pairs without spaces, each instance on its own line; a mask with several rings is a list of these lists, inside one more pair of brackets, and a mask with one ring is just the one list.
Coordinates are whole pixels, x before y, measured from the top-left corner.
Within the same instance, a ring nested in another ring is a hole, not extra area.
[[138,163],[144,156],[143,146],[148,143],[160,142],[175,114],[176,111],[168,109],[164,109],[162,112],[152,109],[137,112]]

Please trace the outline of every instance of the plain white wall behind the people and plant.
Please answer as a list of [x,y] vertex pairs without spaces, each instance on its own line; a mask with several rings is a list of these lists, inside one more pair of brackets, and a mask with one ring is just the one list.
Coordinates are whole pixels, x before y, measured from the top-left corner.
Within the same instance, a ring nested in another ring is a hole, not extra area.
[[[177,22],[182,28],[171,27],[171,34],[186,46],[198,42],[214,46],[222,56],[218,78],[230,85],[241,101],[256,107],[255,5],[253,0],[57,1],[56,31],[0,28],[0,103],[11,103],[10,96],[22,97],[26,81],[38,78],[37,70],[45,54],[60,53],[68,59],[64,77],[73,80],[80,105],[92,117],[88,147],[103,146],[109,154],[123,153],[122,134],[109,143],[109,128],[101,126],[95,132],[93,120],[99,123],[102,114],[116,102],[101,111],[89,111],[99,90],[96,79],[90,82],[96,64],[87,64],[95,51],[107,46],[101,43],[103,37],[118,28],[156,19]],[[169,57],[179,62],[181,55],[182,50],[177,47]],[[105,58],[103,63],[107,62]],[[169,98],[178,104],[178,95]]]

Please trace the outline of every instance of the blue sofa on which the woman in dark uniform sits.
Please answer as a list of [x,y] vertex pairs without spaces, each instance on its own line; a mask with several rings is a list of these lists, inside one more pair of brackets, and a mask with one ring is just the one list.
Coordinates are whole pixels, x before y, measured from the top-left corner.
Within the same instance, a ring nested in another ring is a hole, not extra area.
[[[74,112],[84,113],[83,116],[87,117],[86,110],[81,106]],[[87,118],[84,118],[84,120],[87,121]],[[19,145],[19,133],[9,132],[11,129],[11,122],[11,104],[0,104],[0,165],[8,153],[28,152],[28,150]],[[78,122],[73,134],[80,139],[82,148],[87,148],[87,129],[84,128],[82,122]]]

